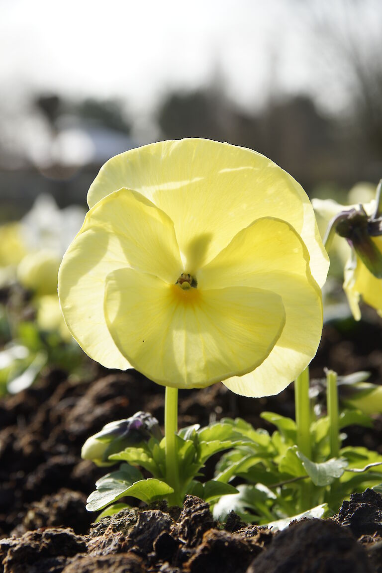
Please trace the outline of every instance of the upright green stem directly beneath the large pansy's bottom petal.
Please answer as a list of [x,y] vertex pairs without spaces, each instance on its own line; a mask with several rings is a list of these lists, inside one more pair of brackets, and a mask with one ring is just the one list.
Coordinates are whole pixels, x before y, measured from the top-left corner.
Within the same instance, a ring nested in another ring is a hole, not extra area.
[[174,488],[168,496],[170,505],[181,505],[179,499],[179,466],[176,434],[178,432],[178,388],[166,386],[164,399],[164,435],[166,437],[166,482]]

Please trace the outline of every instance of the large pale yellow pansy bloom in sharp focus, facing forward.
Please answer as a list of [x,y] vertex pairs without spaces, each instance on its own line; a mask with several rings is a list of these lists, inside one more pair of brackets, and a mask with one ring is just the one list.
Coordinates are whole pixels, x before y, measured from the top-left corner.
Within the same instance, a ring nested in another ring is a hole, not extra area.
[[202,139],[109,160],[62,261],[66,324],[94,360],[166,386],[265,396],[316,353],[328,257],[301,186]]

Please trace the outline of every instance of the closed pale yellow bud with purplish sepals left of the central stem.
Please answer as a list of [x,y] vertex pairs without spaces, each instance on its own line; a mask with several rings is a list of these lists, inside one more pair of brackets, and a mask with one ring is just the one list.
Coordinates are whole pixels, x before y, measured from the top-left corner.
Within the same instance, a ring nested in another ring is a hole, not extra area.
[[109,461],[109,456],[150,438],[162,439],[159,423],[151,414],[140,411],[130,418],[110,422],[90,436],[82,446],[81,457],[98,466],[113,465],[116,462]]

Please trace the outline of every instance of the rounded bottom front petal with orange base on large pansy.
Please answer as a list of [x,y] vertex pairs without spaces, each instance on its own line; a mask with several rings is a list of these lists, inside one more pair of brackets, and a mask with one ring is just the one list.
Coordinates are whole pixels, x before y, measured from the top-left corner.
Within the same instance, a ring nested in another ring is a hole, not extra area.
[[133,269],[110,273],[109,331],[129,363],[154,382],[204,387],[257,367],[281,334],[281,297],[234,287],[212,291],[168,285]]

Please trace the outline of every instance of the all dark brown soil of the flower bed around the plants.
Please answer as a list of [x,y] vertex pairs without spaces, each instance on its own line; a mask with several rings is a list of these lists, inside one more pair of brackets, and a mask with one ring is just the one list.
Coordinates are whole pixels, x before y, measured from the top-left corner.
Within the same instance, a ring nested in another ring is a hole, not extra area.
[[[380,323],[361,321],[350,326],[350,330],[345,329],[346,323],[324,329],[311,366],[312,377],[322,378],[322,369],[328,366],[343,375],[369,370],[373,382],[380,382]],[[277,536],[256,526],[243,528],[234,515],[224,529],[216,528],[207,505],[193,499],[186,500],[179,519],[163,508],[122,513],[105,518],[88,535],[95,516],[86,512],[85,499],[105,469],[81,460],[82,444],[105,423],[127,418],[137,410],[149,411],[163,422],[164,407],[164,388],[137,372],[102,368],[98,372],[93,382],[85,383],[68,378],[61,370],[46,371],[33,387],[0,401],[0,539],[12,536],[0,542],[4,573],[234,573],[265,568],[269,573],[321,572],[334,571],[329,567],[336,563],[336,552],[340,555],[336,573],[348,571],[344,567],[349,563],[353,573],[358,564],[365,573],[382,573],[377,568],[382,562],[381,496],[376,493],[362,499],[353,496],[348,505],[342,505],[336,521],[303,522]],[[182,391],[179,425],[206,425],[225,416],[241,416],[255,427],[272,430],[259,417],[264,410],[294,417],[293,388],[256,400],[234,395],[223,384]],[[355,428],[348,434],[349,444],[382,453],[381,419],[373,429]],[[283,555],[283,560],[271,557],[272,552]],[[332,555],[330,563],[324,554]],[[294,560],[302,563],[300,568],[293,565]],[[283,563],[289,563],[289,568],[282,568]]]

